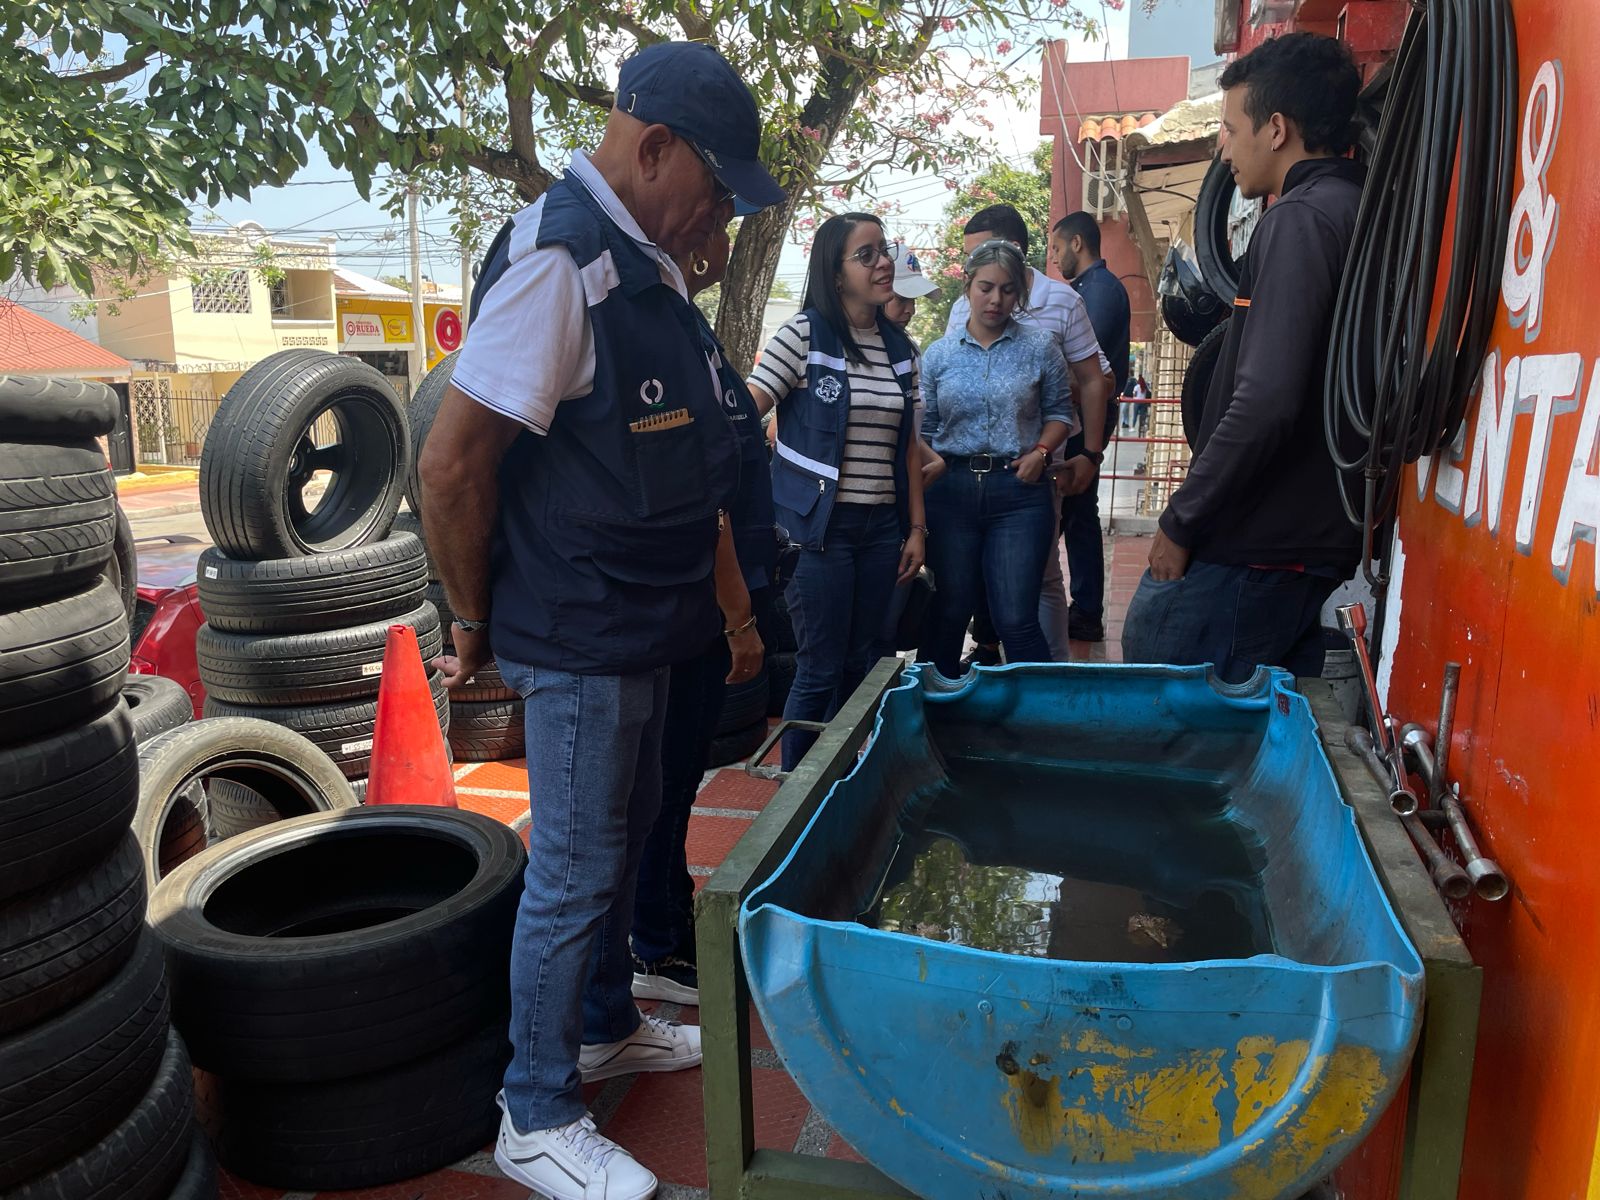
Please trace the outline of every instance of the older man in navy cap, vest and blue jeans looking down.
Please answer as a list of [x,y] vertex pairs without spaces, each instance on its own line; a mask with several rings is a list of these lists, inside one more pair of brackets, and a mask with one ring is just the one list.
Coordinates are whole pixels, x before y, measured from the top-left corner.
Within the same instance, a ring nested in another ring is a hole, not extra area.
[[493,643],[526,699],[533,826],[494,1158],[555,1200],[656,1192],[595,1128],[584,1082],[701,1061],[699,1029],[635,1008],[627,938],[667,669],[723,627],[712,560],[739,458],[674,258],[736,200],[782,200],[760,134],[715,50],[624,62],[600,147],[491,246],[421,462],[458,613],[445,682]]

